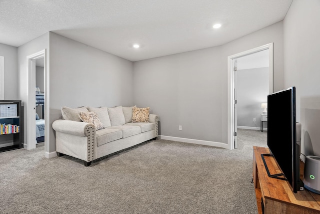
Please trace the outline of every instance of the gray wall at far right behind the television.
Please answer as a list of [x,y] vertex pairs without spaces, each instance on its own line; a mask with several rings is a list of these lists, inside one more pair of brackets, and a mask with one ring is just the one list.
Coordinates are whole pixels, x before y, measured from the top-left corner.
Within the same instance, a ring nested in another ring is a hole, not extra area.
[[294,0],[283,21],[284,88],[296,87],[301,152],[317,156],[320,156],[319,11],[318,0]]

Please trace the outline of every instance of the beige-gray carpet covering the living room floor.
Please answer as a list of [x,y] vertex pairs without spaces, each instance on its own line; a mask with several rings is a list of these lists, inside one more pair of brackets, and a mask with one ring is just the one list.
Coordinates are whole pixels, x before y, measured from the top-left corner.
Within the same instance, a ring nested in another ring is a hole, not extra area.
[[252,145],[266,132],[238,130],[238,149],[154,140],[93,161],[0,153],[1,213],[256,213]]

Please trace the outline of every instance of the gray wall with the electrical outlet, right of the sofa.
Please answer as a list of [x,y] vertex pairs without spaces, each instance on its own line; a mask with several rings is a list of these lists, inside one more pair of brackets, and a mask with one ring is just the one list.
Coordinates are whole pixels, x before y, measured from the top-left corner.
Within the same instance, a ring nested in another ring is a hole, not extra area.
[[134,63],[135,104],[159,115],[161,135],[222,141],[220,54],[217,47]]

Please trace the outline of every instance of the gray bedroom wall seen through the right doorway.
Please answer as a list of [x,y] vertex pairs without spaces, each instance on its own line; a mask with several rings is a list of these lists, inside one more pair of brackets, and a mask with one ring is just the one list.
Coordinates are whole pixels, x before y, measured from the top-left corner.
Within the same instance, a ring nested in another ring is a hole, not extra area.
[[[269,94],[269,68],[253,68],[237,71],[237,125],[260,127],[261,103]],[[256,122],[253,122],[253,118]],[[265,124],[263,124],[265,125]],[[266,127],[266,126],[264,126]]]

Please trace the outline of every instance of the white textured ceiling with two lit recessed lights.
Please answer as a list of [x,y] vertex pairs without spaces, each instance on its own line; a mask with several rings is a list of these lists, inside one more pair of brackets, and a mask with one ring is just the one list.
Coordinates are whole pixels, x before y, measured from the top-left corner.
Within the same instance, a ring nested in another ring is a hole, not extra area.
[[0,43],[18,47],[52,31],[138,61],[225,44],[283,20],[291,2],[0,0]]

